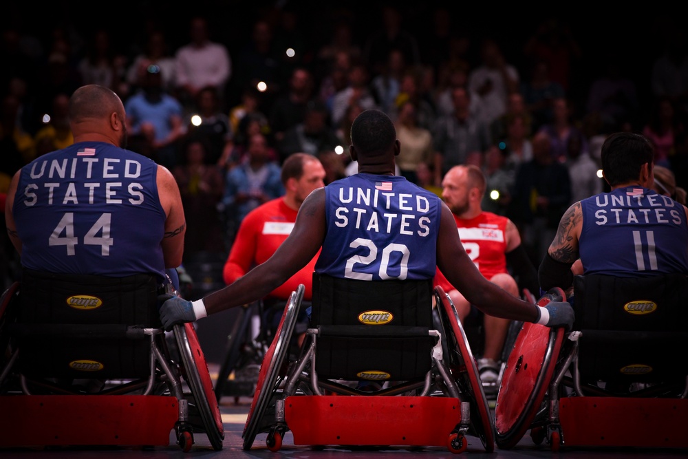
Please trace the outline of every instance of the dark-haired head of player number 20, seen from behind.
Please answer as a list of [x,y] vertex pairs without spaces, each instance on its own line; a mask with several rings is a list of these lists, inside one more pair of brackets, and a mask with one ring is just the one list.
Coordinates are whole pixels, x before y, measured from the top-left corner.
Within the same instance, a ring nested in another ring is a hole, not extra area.
[[385,164],[398,154],[394,123],[384,111],[367,109],[351,126],[352,154],[361,165]]

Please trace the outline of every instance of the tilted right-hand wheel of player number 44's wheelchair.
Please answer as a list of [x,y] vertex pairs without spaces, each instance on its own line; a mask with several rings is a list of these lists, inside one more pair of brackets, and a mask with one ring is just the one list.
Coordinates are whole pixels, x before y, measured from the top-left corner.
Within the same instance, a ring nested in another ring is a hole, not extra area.
[[184,365],[186,383],[200,413],[204,431],[215,451],[222,449],[224,425],[213,393],[213,380],[192,323],[174,326],[174,335]]

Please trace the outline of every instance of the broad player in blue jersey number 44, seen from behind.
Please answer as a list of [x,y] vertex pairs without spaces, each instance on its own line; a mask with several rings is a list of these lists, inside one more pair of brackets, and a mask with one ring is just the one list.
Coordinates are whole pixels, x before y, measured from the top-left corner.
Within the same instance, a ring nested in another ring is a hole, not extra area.
[[86,85],[69,101],[74,144],[12,178],[8,233],[30,270],[127,277],[182,263],[184,209],[172,174],[125,149],[125,109]]

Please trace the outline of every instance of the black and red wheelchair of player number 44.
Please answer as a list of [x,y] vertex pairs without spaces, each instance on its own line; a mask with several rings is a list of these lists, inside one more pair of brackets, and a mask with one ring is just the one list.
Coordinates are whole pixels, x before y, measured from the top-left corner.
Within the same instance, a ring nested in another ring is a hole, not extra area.
[[[169,292],[169,289],[168,289]],[[177,444],[224,427],[193,324],[162,330],[158,281],[24,270],[0,300],[0,447]]]

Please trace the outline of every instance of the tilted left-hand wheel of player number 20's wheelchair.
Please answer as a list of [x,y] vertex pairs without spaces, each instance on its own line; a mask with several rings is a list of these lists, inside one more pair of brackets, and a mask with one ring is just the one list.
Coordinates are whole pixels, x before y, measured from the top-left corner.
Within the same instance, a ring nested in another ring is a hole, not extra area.
[[282,371],[284,359],[289,352],[289,342],[297,323],[304,290],[305,287],[300,284],[297,290],[290,295],[277,326],[275,337],[270,343],[263,363],[261,363],[255,394],[248,410],[244,432],[241,434],[241,437],[244,438],[245,450],[251,449],[257,434],[268,431],[270,428],[270,422],[266,422],[264,417],[270,402],[274,403],[273,398],[277,396],[279,391],[277,379]]

